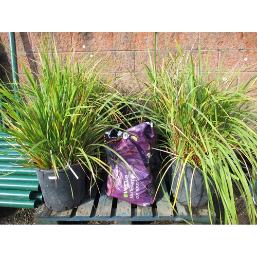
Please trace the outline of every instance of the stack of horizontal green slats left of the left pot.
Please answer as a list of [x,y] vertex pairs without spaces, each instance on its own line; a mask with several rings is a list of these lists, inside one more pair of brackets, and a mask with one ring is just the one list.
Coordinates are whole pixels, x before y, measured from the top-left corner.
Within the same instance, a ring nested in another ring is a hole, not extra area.
[[[0,206],[35,208],[43,200],[36,172],[22,166],[19,160],[24,158],[5,140],[6,137],[7,134],[0,132]],[[19,148],[18,144],[14,146]]]

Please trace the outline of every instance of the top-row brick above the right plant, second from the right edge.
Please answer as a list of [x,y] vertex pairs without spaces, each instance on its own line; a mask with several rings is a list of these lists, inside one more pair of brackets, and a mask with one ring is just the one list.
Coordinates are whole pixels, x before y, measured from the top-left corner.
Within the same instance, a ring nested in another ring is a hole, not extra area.
[[242,38],[242,32],[200,32],[199,45],[205,50],[240,50]]

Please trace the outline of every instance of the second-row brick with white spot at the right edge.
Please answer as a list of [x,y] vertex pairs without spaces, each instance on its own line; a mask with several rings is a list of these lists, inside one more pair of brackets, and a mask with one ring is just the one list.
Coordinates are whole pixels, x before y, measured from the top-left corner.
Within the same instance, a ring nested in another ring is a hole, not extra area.
[[226,70],[244,68],[244,72],[257,71],[257,51],[221,51],[218,65],[221,66],[224,57],[223,67]]

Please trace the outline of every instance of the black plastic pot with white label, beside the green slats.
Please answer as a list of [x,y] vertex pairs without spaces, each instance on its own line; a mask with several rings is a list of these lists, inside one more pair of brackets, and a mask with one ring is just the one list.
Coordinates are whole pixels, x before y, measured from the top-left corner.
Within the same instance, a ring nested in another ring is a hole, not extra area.
[[59,178],[53,170],[35,169],[45,205],[53,211],[73,209],[85,198],[86,174],[80,164],[71,166],[71,169],[76,173],[78,179],[69,168],[65,169],[66,172],[64,169],[58,170]]

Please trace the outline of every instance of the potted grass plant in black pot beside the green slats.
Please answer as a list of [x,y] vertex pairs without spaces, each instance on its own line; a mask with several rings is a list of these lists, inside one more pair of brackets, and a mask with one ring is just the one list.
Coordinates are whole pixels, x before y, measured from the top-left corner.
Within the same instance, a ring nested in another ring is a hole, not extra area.
[[46,206],[64,211],[83,200],[85,179],[94,183],[105,168],[105,131],[118,124],[124,98],[112,86],[115,78],[104,75],[109,59],[64,57],[51,38],[40,50],[37,72],[22,62],[18,83],[0,83],[0,131],[19,161],[36,169]]

